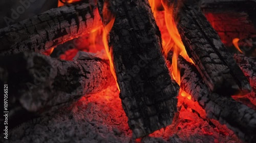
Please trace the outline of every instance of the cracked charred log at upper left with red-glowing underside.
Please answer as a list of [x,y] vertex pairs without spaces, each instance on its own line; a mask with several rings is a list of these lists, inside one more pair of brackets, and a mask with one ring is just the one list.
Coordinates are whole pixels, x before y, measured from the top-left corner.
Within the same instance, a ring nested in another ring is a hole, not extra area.
[[0,30],[0,55],[44,52],[102,25],[93,0],[48,10]]

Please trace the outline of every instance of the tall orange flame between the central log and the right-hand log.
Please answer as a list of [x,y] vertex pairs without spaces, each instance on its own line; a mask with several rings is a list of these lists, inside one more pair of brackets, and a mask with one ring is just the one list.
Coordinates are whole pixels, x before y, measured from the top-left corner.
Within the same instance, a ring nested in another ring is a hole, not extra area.
[[[180,54],[183,56],[184,59],[186,59],[190,63],[194,63],[188,56],[185,46],[182,43],[180,34],[178,32],[176,23],[175,23],[175,17],[174,17],[174,5],[167,6],[164,5],[159,0],[149,0],[148,1],[151,5],[151,9],[154,13],[154,17],[156,19],[157,25],[160,28],[161,34],[166,35],[162,37],[163,38],[163,53],[165,57],[167,57],[167,54],[170,50],[174,51],[173,59],[172,59],[172,76],[176,80],[176,82],[180,85],[181,77],[180,77],[180,70],[178,68],[177,60],[178,55]],[[160,12],[157,11],[157,6],[159,6],[162,3],[164,7],[164,21],[160,21]],[[186,92],[180,90],[181,96],[187,97],[188,99],[191,99],[191,95],[187,94]]]

